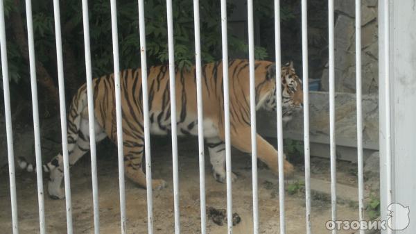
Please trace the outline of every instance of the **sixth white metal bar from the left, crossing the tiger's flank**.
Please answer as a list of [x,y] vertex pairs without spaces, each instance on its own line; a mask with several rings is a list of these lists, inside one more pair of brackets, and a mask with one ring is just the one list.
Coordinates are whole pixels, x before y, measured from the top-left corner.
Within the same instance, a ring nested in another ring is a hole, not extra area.
[[146,24],[144,20],[144,2],[139,0],[139,31],[141,58],[141,90],[143,90],[143,119],[144,119],[144,153],[146,160],[146,194],[148,207],[148,233],[153,234],[153,190],[152,190],[152,158],[150,156],[150,120],[147,83],[146,60]]

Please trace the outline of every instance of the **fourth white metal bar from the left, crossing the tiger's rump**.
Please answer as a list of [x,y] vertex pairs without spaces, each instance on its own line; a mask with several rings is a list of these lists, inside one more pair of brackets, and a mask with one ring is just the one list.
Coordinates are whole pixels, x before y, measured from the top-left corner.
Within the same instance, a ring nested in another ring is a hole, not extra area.
[[98,200],[98,177],[94,117],[94,90],[92,88],[91,49],[89,42],[88,1],[83,0],[83,27],[85,47],[85,74],[87,75],[88,123],[89,123],[89,151],[91,153],[92,200],[94,206],[94,233],[100,233],[100,209]]

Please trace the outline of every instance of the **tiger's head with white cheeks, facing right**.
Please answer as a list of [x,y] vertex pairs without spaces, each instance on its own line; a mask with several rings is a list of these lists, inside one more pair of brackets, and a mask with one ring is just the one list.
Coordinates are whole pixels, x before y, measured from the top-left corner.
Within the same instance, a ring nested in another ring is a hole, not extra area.
[[[268,78],[275,81],[276,67],[272,64],[268,67]],[[287,122],[291,119],[293,112],[302,110],[303,108],[303,90],[302,80],[297,76],[295,69],[293,68],[293,62],[288,62],[281,67],[281,101],[282,101],[282,114],[283,120]],[[275,111],[277,108],[276,101],[276,85],[274,88],[266,94],[263,101],[264,109],[268,111]]]

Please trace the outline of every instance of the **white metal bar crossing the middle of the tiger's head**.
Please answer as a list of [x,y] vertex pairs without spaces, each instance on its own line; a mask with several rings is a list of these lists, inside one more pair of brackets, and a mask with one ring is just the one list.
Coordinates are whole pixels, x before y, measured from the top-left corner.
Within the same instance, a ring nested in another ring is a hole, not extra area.
[[280,1],[275,0],[275,49],[276,49],[276,102],[277,102],[277,158],[279,160],[279,211],[280,233],[286,233],[284,208],[284,150],[283,150],[283,116],[281,110],[281,48],[280,48]]

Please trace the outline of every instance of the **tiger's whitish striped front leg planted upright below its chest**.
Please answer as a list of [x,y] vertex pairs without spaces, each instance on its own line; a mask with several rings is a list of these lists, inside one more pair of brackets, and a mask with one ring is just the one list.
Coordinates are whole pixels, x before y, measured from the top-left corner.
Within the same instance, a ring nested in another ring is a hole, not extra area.
[[[225,183],[227,174],[225,172],[225,143],[218,137],[207,138],[209,160],[212,165],[212,174],[216,181]],[[236,181],[236,174],[232,173],[232,181]]]

